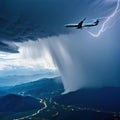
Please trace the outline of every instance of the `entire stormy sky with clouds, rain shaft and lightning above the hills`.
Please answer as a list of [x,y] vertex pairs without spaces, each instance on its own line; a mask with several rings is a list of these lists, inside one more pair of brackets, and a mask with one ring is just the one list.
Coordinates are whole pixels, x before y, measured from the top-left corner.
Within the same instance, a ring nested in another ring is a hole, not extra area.
[[[57,71],[65,92],[119,86],[119,3],[0,0],[0,75]],[[86,23],[95,19],[100,23],[82,30],[64,27],[85,17]]]

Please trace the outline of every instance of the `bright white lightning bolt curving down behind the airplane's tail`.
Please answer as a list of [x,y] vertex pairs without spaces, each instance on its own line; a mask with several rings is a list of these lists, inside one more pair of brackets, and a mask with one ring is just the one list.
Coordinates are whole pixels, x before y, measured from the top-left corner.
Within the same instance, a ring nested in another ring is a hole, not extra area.
[[92,35],[93,37],[99,37],[103,32],[105,32],[108,28],[110,28],[110,27],[107,27],[107,23],[120,11],[119,6],[120,6],[120,0],[117,0],[117,6],[116,6],[115,10],[113,11],[113,13],[110,16],[106,17],[106,20],[103,22],[100,30],[96,34],[90,32],[90,31],[88,31],[88,33],[90,35]]

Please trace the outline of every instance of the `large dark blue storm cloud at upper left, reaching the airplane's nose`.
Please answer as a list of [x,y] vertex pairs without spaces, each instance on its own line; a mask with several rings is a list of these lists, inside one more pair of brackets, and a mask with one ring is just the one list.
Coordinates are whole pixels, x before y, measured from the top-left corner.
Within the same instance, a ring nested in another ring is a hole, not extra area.
[[68,33],[64,24],[79,22],[86,16],[93,18],[98,3],[97,11],[105,9],[101,8],[100,0],[93,3],[91,0],[0,0],[0,40],[23,42]]

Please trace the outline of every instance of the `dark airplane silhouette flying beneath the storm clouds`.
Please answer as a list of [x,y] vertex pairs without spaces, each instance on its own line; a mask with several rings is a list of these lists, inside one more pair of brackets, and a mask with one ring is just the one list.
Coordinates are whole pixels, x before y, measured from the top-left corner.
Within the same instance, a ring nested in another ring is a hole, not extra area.
[[67,28],[69,28],[69,27],[75,27],[76,29],[82,29],[84,27],[93,27],[93,26],[96,26],[99,23],[99,20],[97,19],[94,23],[89,23],[89,24],[83,25],[83,23],[84,23],[85,20],[86,20],[86,18],[84,18],[78,24],[67,24],[67,25],[65,25],[65,27],[67,27]]

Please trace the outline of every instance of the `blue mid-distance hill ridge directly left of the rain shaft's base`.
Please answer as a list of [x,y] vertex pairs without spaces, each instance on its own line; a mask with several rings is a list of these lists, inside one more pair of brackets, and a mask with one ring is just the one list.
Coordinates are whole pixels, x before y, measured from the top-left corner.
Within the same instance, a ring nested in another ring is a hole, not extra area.
[[14,94],[30,95],[37,98],[48,98],[60,95],[64,91],[64,88],[61,78],[55,77],[16,85],[9,88],[7,91]]

